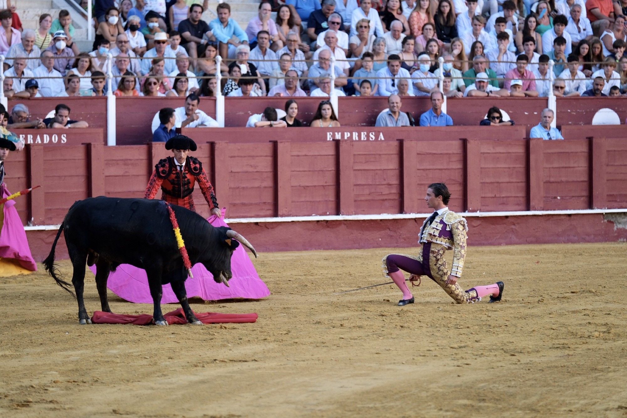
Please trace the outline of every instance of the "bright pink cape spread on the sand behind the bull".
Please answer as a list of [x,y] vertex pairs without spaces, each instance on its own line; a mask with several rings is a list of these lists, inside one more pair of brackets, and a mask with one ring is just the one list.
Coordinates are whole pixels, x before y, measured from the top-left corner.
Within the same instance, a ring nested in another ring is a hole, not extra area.
[[[209,223],[214,227],[228,227],[224,222],[224,213],[222,210],[222,218],[212,215],[208,218]],[[174,233],[174,232],[172,232]],[[185,240],[185,237],[183,237]],[[219,299],[260,299],[270,294],[266,284],[259,278],[253,263],[248,254],[246,247],[240,245],[233,252],[231,257],[231,272],[233,277],[229,280],[229,286],[226,287],[222,283],[216,283],[213,275],[204,268],[204,265],[198,263],[192,267],[193,278],[187,277],[185,288],[187,289],[187,297],[202,297],[205,301],[217,301]],[[96,266],[90,267],[95,274]],[[122,297],[133,303],[152,303],[150,296],[150,288],[148,287],[148,278],[144,269],[139,269],[130,264],[120,265],[115,272],[111,273],[107,282],[107,287],[117,296]],[[170,284],[164,284],[163,296],[161,303],[178,303]]]

